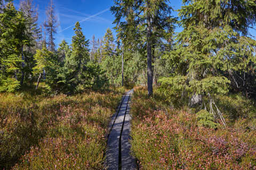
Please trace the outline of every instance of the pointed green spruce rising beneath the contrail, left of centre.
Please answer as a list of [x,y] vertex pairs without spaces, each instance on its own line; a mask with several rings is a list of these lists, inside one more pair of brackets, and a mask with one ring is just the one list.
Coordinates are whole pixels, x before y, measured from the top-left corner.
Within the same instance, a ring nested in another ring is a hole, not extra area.
[[89,82],[87,63],[89,58],[89,40],[85,38],[79,22],[76,22],[75,36],[72,38],[71,55],[65,58],[65,64],[58,74],[59,86],[67,92],[85,87]]

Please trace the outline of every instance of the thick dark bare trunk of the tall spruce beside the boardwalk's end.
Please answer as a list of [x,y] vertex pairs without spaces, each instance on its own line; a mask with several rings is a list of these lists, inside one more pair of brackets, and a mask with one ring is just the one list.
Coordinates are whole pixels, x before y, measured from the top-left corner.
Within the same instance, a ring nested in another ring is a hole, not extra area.
[[[149,4],[148,4],[149,8]],[[148,74],[148,96],[153,95],[153,71],[152,71],[152,43],[151,43],[151,17],[147,12],[147,74]]]

